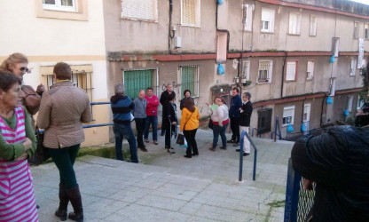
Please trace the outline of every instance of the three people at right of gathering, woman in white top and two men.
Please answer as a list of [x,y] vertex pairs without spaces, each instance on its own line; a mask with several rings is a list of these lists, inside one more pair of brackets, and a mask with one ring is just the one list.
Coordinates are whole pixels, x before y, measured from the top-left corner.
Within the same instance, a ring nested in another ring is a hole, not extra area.
[[[250,101],[251,94],[244,92],[242,99],[239,96],[239,89],[234,87],[232,89],[231,106],[228,110],[226,101],[223,97],[216,97],[214,105],[210,106],[207,103],[211,113],[211,126],[213,129],[213,146],[209,148],[211,151],[216,151],[219,135],[222,139],[221,149],[227,149],[227,143],[233,143],[233,147],[239,147],[240,131],[249,131],[250,119],[253,113],[253,106]],[[231,123],[232,139],[227,140],[225,131],[228,124]],[[236,151],[239,152],[239,148]],[[244,138],[243,156],[250,154],[250,142],[247,137]]]

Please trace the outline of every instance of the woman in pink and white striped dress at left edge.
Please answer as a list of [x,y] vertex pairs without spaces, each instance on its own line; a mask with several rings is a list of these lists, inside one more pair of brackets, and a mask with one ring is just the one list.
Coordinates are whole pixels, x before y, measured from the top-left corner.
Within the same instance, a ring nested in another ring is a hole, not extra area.
[[0,222],[38,221],[27,163],[37,141],[22,97],[19,78],[0,70]]

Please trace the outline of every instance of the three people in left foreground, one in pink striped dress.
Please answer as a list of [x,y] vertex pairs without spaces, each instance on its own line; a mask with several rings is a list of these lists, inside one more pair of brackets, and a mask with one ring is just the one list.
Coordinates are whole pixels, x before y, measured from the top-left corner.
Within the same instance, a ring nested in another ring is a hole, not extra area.
[[[36,125],[44,129],[43,146],[59,170],[59,208],[55,216],[83,221],[82,199],[73,165],[84,140],[82,123],[91,120],[90,100],[75,87],[72,70],[59,62],[54,84],[36,91],[23,81],[29,73],[24,54],[13,53],[0,67],[0,220],[38,221],[27,158],[35,155]],[[67,215],[71,202],[74,211]]]

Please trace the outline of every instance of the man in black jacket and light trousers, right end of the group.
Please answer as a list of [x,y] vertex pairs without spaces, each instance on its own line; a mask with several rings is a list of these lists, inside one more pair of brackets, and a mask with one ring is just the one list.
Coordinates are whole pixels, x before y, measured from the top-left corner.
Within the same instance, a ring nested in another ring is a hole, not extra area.
[[[242,106],[239,107],[239,131],[250,131],[250,119],[253,113],[253,105],[251,104],[251,94],[244,92],[242,95]],[[236,149],[239,152],[239,149]],[[243,156],[250,155],[250,141],[245,136],[243,140]]]

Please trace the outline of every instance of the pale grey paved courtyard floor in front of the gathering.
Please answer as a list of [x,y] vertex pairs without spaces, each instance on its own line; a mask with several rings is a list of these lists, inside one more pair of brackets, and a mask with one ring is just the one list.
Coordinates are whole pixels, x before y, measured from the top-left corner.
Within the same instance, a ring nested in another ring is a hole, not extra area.
[[[256,181],[252,152],[244,157],[239,182],[235,147],[208,150],[211,131],[199,130],[196,138],[200,155],[191,159],[184,158],[185,149],[174,142],[177,153],[169,155],[162,146],[164,137],[157,146],[146,144],[149,152],[138,151],[139,164],[92,155],[78,158],[75,171],[85,221],[283,221],[293,143],[254,138]],[[53,215],[59,205],[58,170],[54,163],[31,170],[40,221],[59,221]]]

